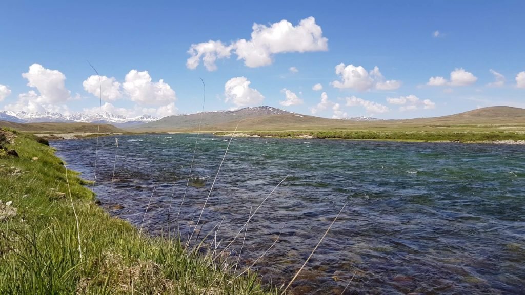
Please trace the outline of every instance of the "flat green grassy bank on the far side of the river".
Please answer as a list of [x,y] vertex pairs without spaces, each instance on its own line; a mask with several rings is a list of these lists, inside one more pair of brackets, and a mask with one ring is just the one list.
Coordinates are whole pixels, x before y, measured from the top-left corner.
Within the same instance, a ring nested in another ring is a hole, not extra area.
[[[424,142],[495,142],[523,141],[525,133],[505,131],[242,131],[243,134],[271,136],[277,138],[396,140]],[[231,132],[216,132],[215,135],[231,135]]]

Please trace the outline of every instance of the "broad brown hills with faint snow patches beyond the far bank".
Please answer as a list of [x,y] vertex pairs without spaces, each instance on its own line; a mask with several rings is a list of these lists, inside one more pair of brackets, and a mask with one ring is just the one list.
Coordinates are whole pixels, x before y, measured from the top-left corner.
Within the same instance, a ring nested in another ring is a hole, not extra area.
[[525,130],[525,109],[488,107],[436,118],[406,120],[334,120],[297,114],[272,107],[250,107],[236,111],[174,115],[128,128],[136,132],[196,131],[202,115],[203,131],[238,130],[451,130],[518,128]]

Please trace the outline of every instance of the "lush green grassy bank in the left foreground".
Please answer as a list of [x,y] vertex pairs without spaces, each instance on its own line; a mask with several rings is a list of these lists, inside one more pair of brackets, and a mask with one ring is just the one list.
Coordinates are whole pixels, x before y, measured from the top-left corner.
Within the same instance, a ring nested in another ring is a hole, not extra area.
[[0,145],[18,154],[0,153],[0,293],[268,293],[211,254],[110,217],[44,141],[0,131]]

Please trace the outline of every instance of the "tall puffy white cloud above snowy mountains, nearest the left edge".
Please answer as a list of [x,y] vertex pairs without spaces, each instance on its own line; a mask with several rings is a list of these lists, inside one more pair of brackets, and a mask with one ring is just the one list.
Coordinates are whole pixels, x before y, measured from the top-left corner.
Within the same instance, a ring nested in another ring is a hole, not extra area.
[[40,93],[36,98],[39,103],[59,103],[70,98],[70,91],[65,86],[66,76],[58,70],[33,64],[22,77],[27,79],[27,86],[36,88]]

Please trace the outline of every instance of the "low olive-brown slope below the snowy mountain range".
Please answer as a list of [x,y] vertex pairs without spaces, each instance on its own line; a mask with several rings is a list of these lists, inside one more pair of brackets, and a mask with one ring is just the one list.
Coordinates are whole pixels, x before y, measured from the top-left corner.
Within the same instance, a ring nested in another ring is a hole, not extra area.
[[[40,133],[96,133],[98,130],[98,124],[91,123],[15,123],[0,121],[0,127]],[[125,131],[110,124],[100,124],[100,132],[123,133]]]

